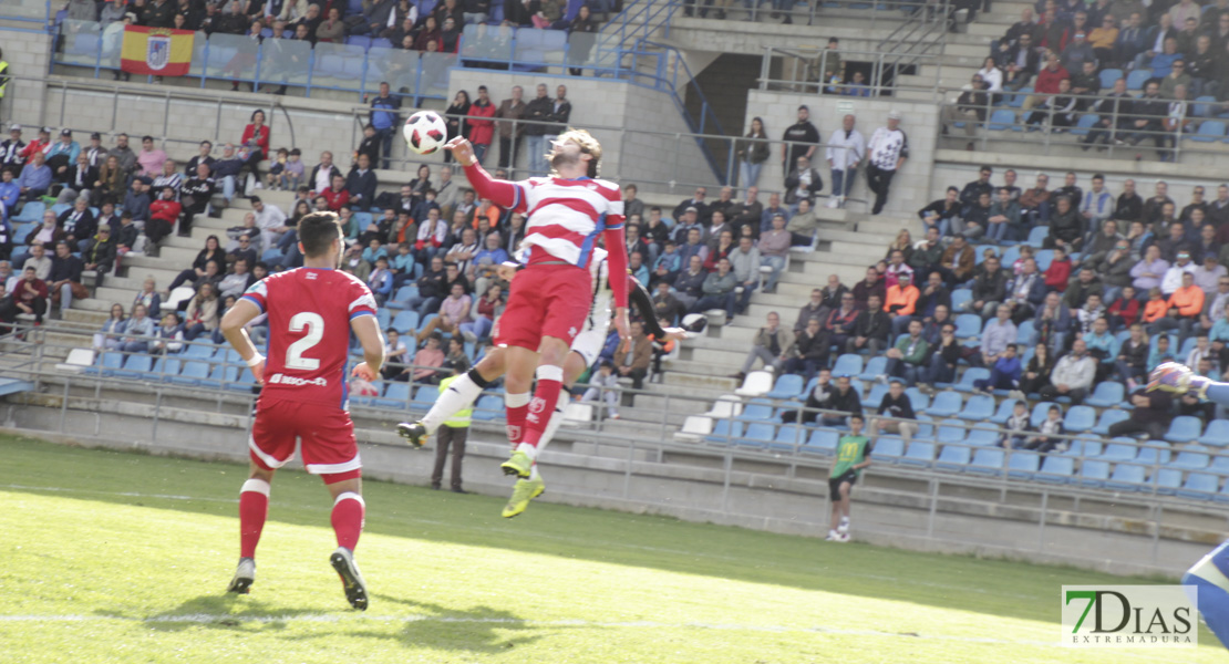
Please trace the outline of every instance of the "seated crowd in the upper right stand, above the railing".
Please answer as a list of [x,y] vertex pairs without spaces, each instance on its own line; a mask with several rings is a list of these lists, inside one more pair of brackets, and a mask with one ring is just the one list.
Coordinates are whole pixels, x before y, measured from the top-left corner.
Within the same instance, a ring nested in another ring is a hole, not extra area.
[[1176,137],[1198,129],[1191,103],[1202,98],[1219,113],[1229,101],[1229,4],[1037,1],[992,42],[984,66],[944,109],[944,134],[964,122],[973,136],[1016,91],[1027,92],[1020,122],[1030,131],[1066,131],[1091,113],[1084,150],[1148,141],[1174,161]]

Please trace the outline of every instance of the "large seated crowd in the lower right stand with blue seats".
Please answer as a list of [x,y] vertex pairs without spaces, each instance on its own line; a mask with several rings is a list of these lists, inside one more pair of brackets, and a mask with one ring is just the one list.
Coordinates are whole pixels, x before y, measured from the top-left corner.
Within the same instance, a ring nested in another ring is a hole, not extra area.
[[1030,189],[1013,171],[993,180],[982,167],[948,188],[918,212],[923,239],[902,230],[857,284],[832,275],[793,324],[769,313],[736,378],[757,362],[812,378],[864,352],[884,358],[879,380],[923,393],[983,367],[977,392],[1079,405],[1104,380],[1142,388],[1164,361],[1229,374],[1229,184],[1175,201],[1165,182],[1145,199],[1100,174],[1053,190],[1045,173]]

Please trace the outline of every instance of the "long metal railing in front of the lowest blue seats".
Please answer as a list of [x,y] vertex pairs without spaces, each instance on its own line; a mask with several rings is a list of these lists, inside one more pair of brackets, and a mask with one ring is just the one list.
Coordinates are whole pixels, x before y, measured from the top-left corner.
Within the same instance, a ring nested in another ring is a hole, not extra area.
[[[61,432],[66,432],[66,422],[71,412],[93,412],[97,420],[101,416],[104,399],[116,399],[114,395],[104,395],[103,390],[108,390],[108,393],[119,392],[122,394],[145,395],[141,399],[146,404],[145,416],[151,423],[151,439],[157,439],[160,422],[171,420],[183,421],[178,411],[183,409],[181,401],[186,395],[186,389],[189,389],[192,396],[198,400],[213,401],[216,412],[225,412],[243,419],[248,417],[251,406],[257,398],[249,380],[230,380],[227,379],[226,369],[221,372],[220,379],[214,383],[209,383],[209,380],[213,380],[213,371],[210,371],[210,378],[204,383],[197,378],[192,378],[181,382],[182,384],[168,380],[171,377],[166,371],[161,373],[141,372],[147,373],[144,377],[117,376],[106,369],[100,369],[95,373],[59,371],[54,366],[59,362],[57,355],[66,346],[58,345],[53,340],[50,335],[55,331],[55,325],[44,328],[20,326],[16,334],[0,336],[0,358],[5,361],[5,368],[0,371],[0,376],[29,379],[34,382],[33,392],[36,394],[44,393],[58,396],[58,404],[53,401],[48,405],[60,409],[59,421]],[[15,338],[18,335],[25,336],[26,340],[16,341]],[[204,347],[210,355],[215,355],[215,346],[213,345],[202,344],[197,346]],[[214,366],[230,367],[235,372],[242,371],[240,366],[234,366],[234,363],[225,358],[186,357],[192,351],[183,350],[179,356],[184,362],[208,362]],[[130,353],[132,357],[140,355],[143,353]],[[120,367],[120,372],[123,369],[124,367]],[[356,398],[351,395],[351,411],[354,411],[356,420],[376,419],[379,421],[387,421],[388,415],[392,414],[399,417],[401,414],[407,411],[422,412],[430,406],[430,403],[415,401],[413,396],[417,396],[417,392],[414,384],[408,384],[404,399],[387,400],[383,398]],[[622,392],[634,395],[644,394],[637,390]],[[838,428],[827,426],[778,425],[773,422],[772,427],[782,427],[787,434],[782,436],[777,433],[772,439],[748,438],[731,433],[725,436],[693,436],[689,439],[682,439],[676,436],[677,427],[671,423],[670,414],[694,410],[697,401],[707,404],[710,403],[710,399],[696,395],[680,395],[676,392],[644,395],[651,399],[651,404],[660,406],[660,411],[658,411],[660,414],[659,425],[642,421],[645,425],[644,428],[653,428],[653,431],[658,432],[656,436],[645,436],[643,433],[629,434],[626,428],[607,431],[610,422],[602,417],[603,404],[594,404],[596,417],[591,422],[586,423],[576,420],[569,422],[570,426],[579,426],[580,431],[584,432],[581,439],[599,448],[596,453],[608,457],[626,454],[628,463],[622,469],[624,475],[624,497],[629,495],[632,479],[638,475],[637,464],[632,461],[643,454],[649,454],[650,458],[659,460],[664,460],[667,454],[671,454],[675,455],[675,460],[671,463],[681,464],[687,464],[687,458],[707,458],[710,460],[701,461],[702,465],[713,468],[713,461],[718,461],[720,464],[720,479],[717,480],[714,477],[714,480],[724,484],[720,506],[714,506],[714,511],[730,513],[732,507],[731,487],[735,484],[734,474],[744,471],[744,469],[736,465],[737,463],[751,461],[782,466],[782,471],[788,477],[804,476],[800,471],[804,471],[805,476],[814,476],[817,471],[822,473],[830,468],[836,452],[834,439],[841,434]],[[17,395],[10,398],[10,401],[21,403],[22,399],[23,396]],[[171,401],[171,399],[176,399],[176,401]],[[170,407],[168,401],[176,404],[171,410],[167,410]],[[801,407],[801,404],[798,401],[763,400],[762,403],[768,403],[773,406],[799,409],[803,412],[814,412],[820,416],[848,415],[828,410],[807,410]],[[691,407],[687,407],[688,405]],[[501,433],[503,427],[499,426],[499,412],[501,410],[498,406],[493,410],[485,410],[479,404],[472,427],[493,434]],[[729,414],[728,419],[731,422],[736,421],[736,414]],[[884,422],[900,421],[891,417],[871,417],[871,420]],[[247,421],[249,422],[249,420]],[[627,421],[622,420],[619,422],[623,425]],[[1010,433],[995,426],[968,423],[959,420],[945,420],[943,422],[918,421],[917,423],[923,428],[914,434],[914,443],[911,447],[905,448],[903,446],[898,446],[901,447],[898,450],[901,455],[898,457],[886,454],[889,452],[887,448],[891,447],[886,443],[886,439],[900,439],[898,436],[882,434],[878,437],[879,443],[875,454],[871,457],[874,464],[868,470],[866,477],[868,486],[876,486],[880,484],[880,480],[916,480],[924,482],[924,490],[913,490],[912,492],[922,498],[922,504],[918,508],[929,512],[925,527],[928,539],[935,536],[936,513],[940,511],[940,501],[944,501],[948,506],[941,509],[949,509],[952,504],[951,501],[980,502],[986,500],[971,496],[968,493],[970,488],[997,492],[999,495],[998,500],[1002,503],[1008,502],[1009,492],[1011,495],[1019,495],[1020,492],[1036,495],[1040,498],[1040,506],[1034,506],[1030,509],[1036,511],[1032,518],[1036,519],[1035,523],[1037,527],[1037,551],[1045,550],[1046,529],[1053,519],[1050,507],[1052,493],[1061,496],[1063,506],[1073,504],[1069,508],[1073,512],[1080,511],[1082,502],[1113,502],[1120,508],[1136,508],[1148,515],[1139,520],[1145,529],[1144,535],[1152,539],[1152,561],[1154,563],[1160,560],[1160,533],[1168,512],[1172,513],[1176,511],[1204,517],[1214,517],[1219,512],[1209,500],[1212,497],[1211,493],[1204,496],[1203,500],[1177,495],[1181,491],[1181,486],[1175,484],[1172,473],[1176,471],[1180,480],[1184,473],[1198,473],[1200,469],[1184,471],[1169,466],[1168,461],[1172,455],[1172,450],[1155,442],[1139,443],[1116,439],[1104,443],[1100,438],[1086,434],[1053,436],[1070,441],[1073,446],[1078,446],[1078,449],[1073,447],[1067,450],[1054,449],[1045,454],[1039,454],[1030,450],[1011,449],[1010,447],[1000,448],[986,441],[971,442],[968,434],[973,432],[981,432],[983,436],[991,437]],[[927,431],[927,427],[936,428]],[[100,434],[101,431],[96,430],[95,433]],[[793,437],[788,436],[790,433]],[[567,428],[562,432],[562,436],[564,438],[568,437]],[[828,438],[830,441],[828,443],[816,444],[811,442],[812,438]],[[930,446],[929,453],[925,452],[924,446],[918,447],[922,450],[922,453],[918,453],[913,448],[918,443]],[[1121,454],[1116,457],[1106,455],[1105,453],[1110,450],[1102,446],[1109,444],[1120,446],[1113,452]],[[607,448],[607,450],[603,453],[601,448]],[[968,449],[973,463],[949,465],[951,463],[950,457],[945,457],[939,452],[940,449],[949,448],[954,450]],[[984,466],[980,470],[973,469],[977,463],[976,455],[978,450],[1002,452],[1003,460],[993,466]],[[1206,449],[1203,452],[1208,454],[1208,466],[1214,463],[1214,459],[1223,455],[1219,450]],[[1047,476],[1046,466],[1041,465],[1039,468],[1037,463],[1051,457],[1063,459],[1064,463],[1066,460],[1070,460],[1073,473],[1070,475],[1056,473]],[[1023,459],[1026,463],[1013,461],[1013,458]],[[1111,460],[1106,461],[1104,459]],[[1089,464],[1104,464],[1105,471],[1085,473],[1084,466]],[[1110,464],[1113,464],[1115,468],[1123,466],[1138,470],[1133,474],[1123,473],[1123,476],[1116,476],[1116,474],[1109,471]],[[1207,471],[1214,474],[1212,470]],[[1165,476],[1164,474],[1166,473],[1170,475]],[[1127,475],[1131,476],[1128,477]],[[1134,481],[1134,479],[1139,481]],[[1088,481],[1085,482],[1084,480]],[[1219,485],[1219,481],[1220,479],[1218,477],[1215,484]],[[944,493],[944,486],[956,487],[959,493]],[[890,491],[900,492],[900,488]],[[1054,507],[1053,509],[1068,508]],[[1014,518],[1027,519],[1029,517],[1025,517],[1024,512],[1020,512]],[[950,539],[950,535],[945,535],[945,539]]]

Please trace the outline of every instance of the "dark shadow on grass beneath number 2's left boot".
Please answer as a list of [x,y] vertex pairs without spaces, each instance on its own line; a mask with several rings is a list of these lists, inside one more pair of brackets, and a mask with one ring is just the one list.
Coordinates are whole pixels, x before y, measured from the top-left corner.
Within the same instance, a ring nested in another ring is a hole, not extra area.
[[216,593],[186,600],[175,609],[146,617],[145,625],[159,632],[181,632],[200,627],[241,633],[257,630],[268,632],[284,630],[290,621],[302,615],[320,615],[320,611],[270,606],[249,596]]

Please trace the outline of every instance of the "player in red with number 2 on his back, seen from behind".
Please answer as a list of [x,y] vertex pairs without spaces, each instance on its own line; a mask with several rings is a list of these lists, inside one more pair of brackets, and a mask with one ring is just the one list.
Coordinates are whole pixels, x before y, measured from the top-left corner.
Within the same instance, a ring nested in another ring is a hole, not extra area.
[[[354,547],[366,509],[359,448],[347,399],[345,362],[350,331],[365,362],[353,376],[375,380],[383,363],[383,336],[376,301],[358,279],[337,269],[344,249],[337,215],[316,212],[299,222],[304,266],[256,282],[222,318],[226,340],[264,384],[248,439],[251,474],[238,495],[240,560],[232,593],[247,593],[256,579],[256,545],[269,507],[277,469],[302,450],[307,473],[320,475],[333,496],[337,550],[329,563],[342,577],[345,599],[367,608],[367,590],[354,563]],[[268,314],[268,358],[243,329]]]

